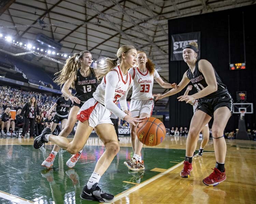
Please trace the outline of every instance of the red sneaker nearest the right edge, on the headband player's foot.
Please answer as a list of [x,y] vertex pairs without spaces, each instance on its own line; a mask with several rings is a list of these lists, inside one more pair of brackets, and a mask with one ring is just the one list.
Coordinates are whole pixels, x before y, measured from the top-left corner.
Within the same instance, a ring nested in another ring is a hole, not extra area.
[[203,179],[203,183],[205,185],[207,185],[207,186],[216,186],[219,183],[221,183],[221,182],[223,182],[227,179],[226,170],[224,170],[224,172],[221,172],[216,167],[212,170],[213,170],[213,172],[208,177]]

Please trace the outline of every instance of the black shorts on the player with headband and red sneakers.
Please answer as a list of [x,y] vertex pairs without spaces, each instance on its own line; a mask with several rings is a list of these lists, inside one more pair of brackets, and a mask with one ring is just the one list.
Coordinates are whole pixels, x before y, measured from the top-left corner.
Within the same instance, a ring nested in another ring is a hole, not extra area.
[[220,107],[228,107],[231,112],[233,113],[233,99],[229,93],[223,94],[222,96],[214,97],[211,99],[208,98],[200,98],[198,99],[197,110],[203,111],[204,113],[208,114],[209,116],[213,117],[214,111]]

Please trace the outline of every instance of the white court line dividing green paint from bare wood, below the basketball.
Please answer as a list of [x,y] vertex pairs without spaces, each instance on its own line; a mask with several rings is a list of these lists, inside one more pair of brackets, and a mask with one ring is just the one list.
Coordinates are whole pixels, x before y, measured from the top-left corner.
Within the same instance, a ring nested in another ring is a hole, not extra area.
[[169,172],[172,171],[173,169],[176,169],[177,167],[181,166],[181,165],[183,164],[183,162],[184,162],[184,161],[182,161],[182,162],[179,163],[179,164],[176,164],[175,166],[171,167],[170,169],[166,170],[165,172],[162,172],[162,173],[160,173],[160,174],[158,174],[158,175],[152,177],[151,179],[149,179],[149,180],[147,180],[147,181],[145,181],[145,182],[143,182],[143,183],[141,183],[141,184],[139,184],[139,185],[137,185],[137,186],[134,186],[133,188],[130,188],[129,190],[127,190],[127,191],[125,191],[125,192],[123,192],[123,193],[117,195],[117,196],[115,197],[113,203],[116,202],[116,201],[118,201],[118,200],[120,200],[120,199],[122,199],[122,198],[124,198],[124,197],[126,197],[126,196],[129,195],[130,193],[132,193],[132,192],[134,192],[134,191],[136,191],[136,190],[142,188],[143,186],[145,186],[145,185],[151,183],[152,181],[157,180],[158,178],[160,178],[161,176],[163,176],[163,175],[169,173]]

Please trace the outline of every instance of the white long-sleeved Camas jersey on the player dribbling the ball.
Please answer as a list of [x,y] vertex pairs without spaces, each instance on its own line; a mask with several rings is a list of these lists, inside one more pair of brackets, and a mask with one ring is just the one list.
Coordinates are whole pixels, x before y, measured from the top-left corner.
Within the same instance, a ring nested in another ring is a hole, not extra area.
[[[127,116],[123,111],[127,111],[126,97],[131,86],[131,75],[128,72],[124,75],[120,67],[117,66],[103,77],[93,93],[93,97],[123,120]],[[123,111],[115,105],[118,100]]]

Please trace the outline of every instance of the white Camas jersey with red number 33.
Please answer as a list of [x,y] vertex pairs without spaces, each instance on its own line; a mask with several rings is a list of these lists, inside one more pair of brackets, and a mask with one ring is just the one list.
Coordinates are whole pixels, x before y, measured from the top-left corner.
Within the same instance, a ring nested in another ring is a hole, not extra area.
[[153,99],[152,89],[154,85],[154,79],[159,77],[159,74],[154,70],[153,74],[141,72],[138,67],[133,67],[128,71],[133,79],[132,96],[131,99],[137,100],[149,100]]

